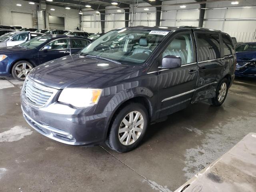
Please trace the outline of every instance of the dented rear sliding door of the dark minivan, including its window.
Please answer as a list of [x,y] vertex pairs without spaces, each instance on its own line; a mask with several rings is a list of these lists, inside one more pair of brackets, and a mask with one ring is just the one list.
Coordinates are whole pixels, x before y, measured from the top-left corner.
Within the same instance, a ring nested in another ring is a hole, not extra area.
[[195,32],[199,76],[192,103],[213,98],[218,84],[218,77],[222,76],[223,63],[220,54],[220,38],[217,32]]

